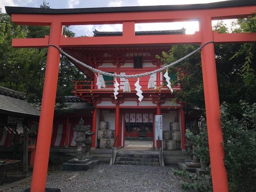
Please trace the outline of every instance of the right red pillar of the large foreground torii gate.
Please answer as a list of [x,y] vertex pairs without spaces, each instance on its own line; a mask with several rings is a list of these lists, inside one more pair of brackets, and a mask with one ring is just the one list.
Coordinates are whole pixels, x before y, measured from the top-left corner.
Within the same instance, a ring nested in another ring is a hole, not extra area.
[[[212,18],[200,18],[202,44],[213,41]],[[214,54],[214,45],[208,44],[201,51],[204,99],[212,167],[212,186],[214,192],[228,192],[228,177],[224,166],[224,148],[220,124],[220,100]]]

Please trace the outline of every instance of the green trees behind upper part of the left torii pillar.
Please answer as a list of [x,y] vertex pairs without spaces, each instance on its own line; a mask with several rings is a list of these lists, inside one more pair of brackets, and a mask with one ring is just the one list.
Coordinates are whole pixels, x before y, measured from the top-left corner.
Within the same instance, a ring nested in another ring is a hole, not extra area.
[[[40,8],[50,8],[45,0]],[[46,48],[12,48],[12,38],[43,38],[50,34],[49,26],[17,26],[8,14],[0,13],[0,86],[25,92],[31,103],[41,104]],[[64,26],[63,34],[68,37],[75,33]],[[57,107],[65,106],[65,96],[71,95],[72,80],[84,80],[85,76],[71,62],[61,55],[56,102]]]

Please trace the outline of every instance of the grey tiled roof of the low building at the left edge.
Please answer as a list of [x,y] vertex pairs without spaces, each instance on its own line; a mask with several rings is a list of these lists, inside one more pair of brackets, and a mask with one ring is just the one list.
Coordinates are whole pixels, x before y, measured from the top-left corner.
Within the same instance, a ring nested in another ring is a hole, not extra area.
[[40,116],[40,110],[33,107],[25,100],[25,93],[17,92],[1,86],[0,110],[5,112]]

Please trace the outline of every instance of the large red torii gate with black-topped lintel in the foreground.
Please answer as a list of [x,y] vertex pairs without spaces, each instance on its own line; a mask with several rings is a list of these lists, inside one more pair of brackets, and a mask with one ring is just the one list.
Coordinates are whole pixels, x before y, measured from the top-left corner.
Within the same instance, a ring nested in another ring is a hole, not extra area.
[[[218,34],[212,31],[212,20],[236,19],[251,16],[256,10],[254,0],[233,0],[210,4],[164,5],[143,7],[108,7],[83,9],[40,9],[27,7],[5,7],[18,25],[51,26],[50,36],[36,39],[13,39],[17,48],[86,46],[135,46],[161,44],[249,43],[256,41],[256,33]],[[193,35],[135,36],[135,23],[199,21],[199,32]],[[63,25],[123,24],[123,36],[66,37]],[[201,51],[204,98],[207,129],[212,166],[214,192],[227,192],[228,179],[224,166],[224,149],[220,125],[220,101],[213,44]],[[32,176],[31,191],[44,192],[50,152],[52,121],[56,97],[60,52],[48,48],[41,116],[37,138],[37,150]]]

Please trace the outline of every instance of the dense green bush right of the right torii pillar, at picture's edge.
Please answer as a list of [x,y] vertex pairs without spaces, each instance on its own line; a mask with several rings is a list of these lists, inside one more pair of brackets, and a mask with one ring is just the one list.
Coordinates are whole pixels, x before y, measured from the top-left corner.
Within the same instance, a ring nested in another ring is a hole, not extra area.
[[240,101],[241,120],[230,116],[229,106],[221,105],[225,166],[231,192],[256,191],[256,103]]

